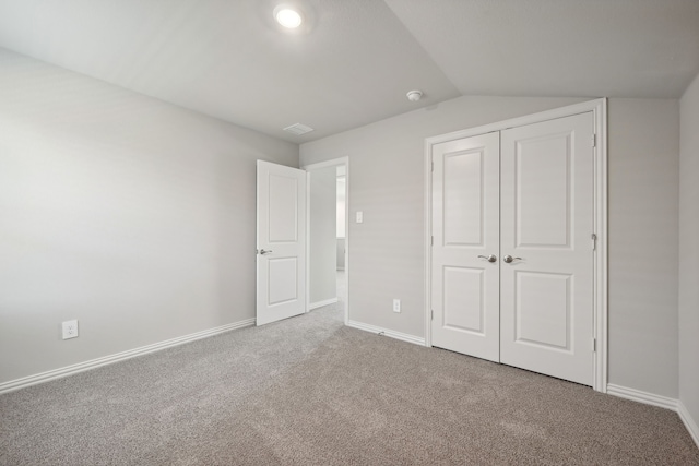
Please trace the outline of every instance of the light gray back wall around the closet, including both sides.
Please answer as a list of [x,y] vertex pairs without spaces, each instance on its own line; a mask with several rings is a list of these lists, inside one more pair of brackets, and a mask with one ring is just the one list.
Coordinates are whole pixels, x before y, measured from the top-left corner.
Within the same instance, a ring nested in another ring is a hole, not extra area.
[[[303,144],[301,164],[352,158],[350,319],[424,337],[425,138],[582,100],[460,97]],[[609,381],[676,397],[678,103],[609,108]]]

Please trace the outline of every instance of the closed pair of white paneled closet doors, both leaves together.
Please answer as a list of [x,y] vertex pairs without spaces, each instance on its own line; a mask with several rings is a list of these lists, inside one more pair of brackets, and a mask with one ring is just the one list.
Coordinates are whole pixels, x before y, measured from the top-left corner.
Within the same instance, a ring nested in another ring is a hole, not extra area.
[[592,112],[433,147],[434,346],[592,385]]

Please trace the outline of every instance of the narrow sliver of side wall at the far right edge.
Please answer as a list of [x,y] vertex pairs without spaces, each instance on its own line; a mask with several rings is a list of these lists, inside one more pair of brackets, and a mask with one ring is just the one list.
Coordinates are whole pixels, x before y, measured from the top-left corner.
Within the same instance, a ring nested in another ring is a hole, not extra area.
[[679,109],[679,399],[699,426],[699,75]]

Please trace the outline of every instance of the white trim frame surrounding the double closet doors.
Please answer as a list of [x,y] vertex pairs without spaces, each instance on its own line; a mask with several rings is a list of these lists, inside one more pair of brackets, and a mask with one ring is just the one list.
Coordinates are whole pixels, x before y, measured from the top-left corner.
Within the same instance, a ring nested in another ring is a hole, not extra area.
[[[431,345],[431,217],[433,217],[433,179],[431,152],[435,144],[471,138],[478,134],[502,131],[509,128],[540,123],[573,115],[592,112],[594,146],[594,219],[596,235],[593,254],[593,338],[595,351],[593,357],[592,387],[602,393],[607,392],[607,99],[600,98],[553,110],[526,115],[481,127],[469,128],[425,139],[425,346]],[[591,238],[592,241],[592,238]],[[592,342],[590,343],[593,344]]]

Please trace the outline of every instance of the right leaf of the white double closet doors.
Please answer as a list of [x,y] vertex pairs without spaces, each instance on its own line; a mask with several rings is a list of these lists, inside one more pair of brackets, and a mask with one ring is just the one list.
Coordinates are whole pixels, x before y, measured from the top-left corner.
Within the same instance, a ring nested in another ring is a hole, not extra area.
[[[592,385],[592,112],[501,133],[500,360]],[[511,261],[508,258],[513,258]]]

